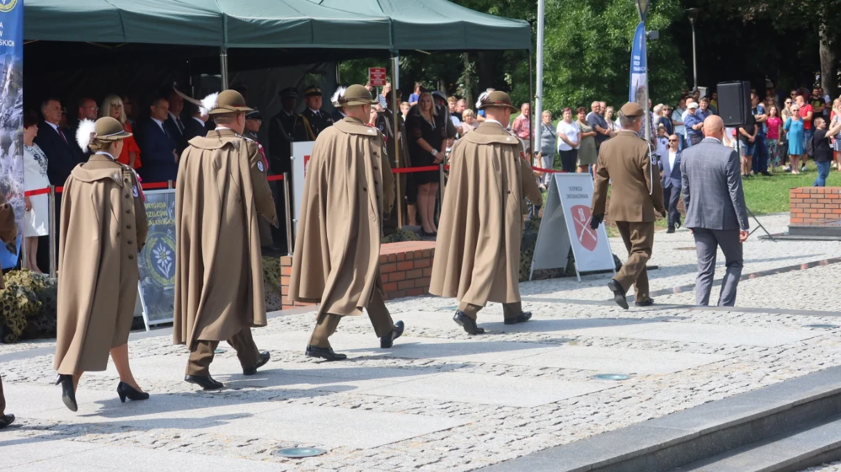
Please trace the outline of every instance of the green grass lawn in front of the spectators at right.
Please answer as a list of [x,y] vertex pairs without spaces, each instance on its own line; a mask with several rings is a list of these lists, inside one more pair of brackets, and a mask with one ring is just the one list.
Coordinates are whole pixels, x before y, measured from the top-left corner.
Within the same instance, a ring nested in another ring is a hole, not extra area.
[[[777,172],[770,177],[761,175],[749,177],[742,180],[744,199],[748,208],[757,215],[788,212],[789,189],[798,186],[812,186],[815,177],[817,177],[817,168],[811,160],[807,164],[806,172],[801,172],[797,176],[789,172]],[[827,186],[841,186],[841,172],[835,169],[830,170]],[[610,188],[608,188],[607,195],[608,197],[611,195]],[[546,194],[543,195],[543,202],[545,204]],[[683,208],[682,203],[681,200],[681,210]],[[658,218],[654,226],[656,228],[666,228],[666,219]],[[619,235],[612,223],[607,225],[607,233],[611,237]]]

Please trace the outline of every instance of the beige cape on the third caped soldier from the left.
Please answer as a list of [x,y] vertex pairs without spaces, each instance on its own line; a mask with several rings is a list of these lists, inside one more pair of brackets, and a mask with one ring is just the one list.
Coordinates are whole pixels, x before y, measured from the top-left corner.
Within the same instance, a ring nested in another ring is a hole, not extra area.
[[346,117],[322,131],[304,178],[289,299],[320,303],[319,315],[361,314],[381,290],[380,228],[393,201],[377,128]]

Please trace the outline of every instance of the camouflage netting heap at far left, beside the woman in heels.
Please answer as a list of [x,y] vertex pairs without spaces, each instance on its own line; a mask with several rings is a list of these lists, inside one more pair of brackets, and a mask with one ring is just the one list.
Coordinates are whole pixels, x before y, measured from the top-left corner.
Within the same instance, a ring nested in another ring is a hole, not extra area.
[[3,343],[56,336],[57,286],[49,275],[12,270],[0,290],[0,324]]

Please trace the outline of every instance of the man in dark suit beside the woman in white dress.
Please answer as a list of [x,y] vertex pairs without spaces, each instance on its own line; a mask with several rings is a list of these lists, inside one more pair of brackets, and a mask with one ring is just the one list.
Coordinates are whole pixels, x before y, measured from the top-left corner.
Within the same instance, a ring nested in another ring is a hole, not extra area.
[[[47,156],[47,177],[50,184],[63,186],[71,171],[80,160],[82,150],[76,144],[76,136],[61,128],[61,102],[50,98],[41,103],[44,122],[40,123],[35,144]],[[78,151],[78,152],[77,152]]]

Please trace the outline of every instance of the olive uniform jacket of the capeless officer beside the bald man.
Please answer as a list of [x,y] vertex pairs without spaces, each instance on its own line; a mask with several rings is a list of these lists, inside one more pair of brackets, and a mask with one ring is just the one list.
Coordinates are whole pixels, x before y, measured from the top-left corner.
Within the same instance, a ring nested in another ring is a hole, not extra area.
[[594,215],[605,214],[607,186],[611,185],[613,221],[653,223],[654,210],[663,212],[663,187],[656,161],[652,163],[648,143],[633,131],[620,131],[599,149],[593,192]]

